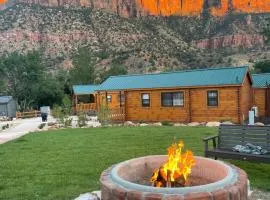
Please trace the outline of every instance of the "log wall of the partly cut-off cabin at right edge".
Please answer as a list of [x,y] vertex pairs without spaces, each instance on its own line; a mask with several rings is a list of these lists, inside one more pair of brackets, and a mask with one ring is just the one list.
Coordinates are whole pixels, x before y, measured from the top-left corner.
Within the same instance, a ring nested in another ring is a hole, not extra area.
[[258,107],[259,117],[265,117],[266,113],[266,89],[265,88],[254,88],[254,105]]

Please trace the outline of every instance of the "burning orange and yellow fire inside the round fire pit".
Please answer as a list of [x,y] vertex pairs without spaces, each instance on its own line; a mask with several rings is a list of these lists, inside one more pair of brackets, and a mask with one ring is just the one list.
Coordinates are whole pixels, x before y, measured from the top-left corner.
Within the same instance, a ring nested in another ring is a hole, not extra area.
[[155,187],[186,186],[191,168],[195,165],[192,151],[183,153],[184,143],[174,143],[168,148],[168,161],[156,169],[151,177]]

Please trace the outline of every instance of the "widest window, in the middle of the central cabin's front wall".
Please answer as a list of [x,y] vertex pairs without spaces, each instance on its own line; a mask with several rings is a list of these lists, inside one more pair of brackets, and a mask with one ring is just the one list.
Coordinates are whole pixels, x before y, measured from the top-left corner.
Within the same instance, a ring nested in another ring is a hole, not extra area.
[[184,93],[183,92],[161,93],[161,105],[165,107],[184,106]]

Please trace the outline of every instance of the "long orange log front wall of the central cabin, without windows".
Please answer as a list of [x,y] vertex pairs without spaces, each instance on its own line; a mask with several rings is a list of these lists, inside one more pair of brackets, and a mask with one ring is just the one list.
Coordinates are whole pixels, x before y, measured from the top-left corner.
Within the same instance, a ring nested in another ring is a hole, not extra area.
[[[217,90],[218,106],[207,105],[207,92]],[[184,92],[184,106],[163,107],[162,92]],[[141,95],[150,94],[150,107],[142,107]],[[238,87],[224,88],[179,88],[128,91],[126,102],[126,120],[148,122],[207,122],[230,120],[239,123]],[[191,103],[190,103],[191,102]]]

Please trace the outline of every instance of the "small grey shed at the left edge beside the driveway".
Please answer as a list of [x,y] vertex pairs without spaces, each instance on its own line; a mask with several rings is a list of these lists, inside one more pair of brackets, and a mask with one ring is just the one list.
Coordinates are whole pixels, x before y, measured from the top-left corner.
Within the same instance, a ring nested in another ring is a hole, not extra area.
[[16,102],[11,96],[0,96],[0,117],[16,117]]

